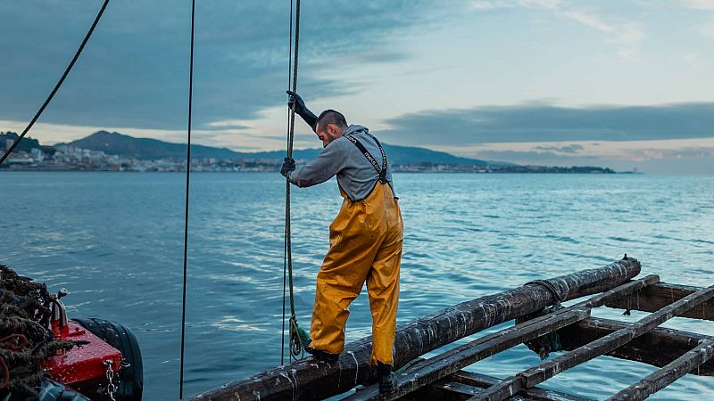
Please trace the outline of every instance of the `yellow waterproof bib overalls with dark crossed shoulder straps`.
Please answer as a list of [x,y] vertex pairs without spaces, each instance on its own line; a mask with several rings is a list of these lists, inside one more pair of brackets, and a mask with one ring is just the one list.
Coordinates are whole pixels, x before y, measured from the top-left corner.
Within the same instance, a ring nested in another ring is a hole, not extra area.
[[369,196],[361,201],[350,200],[340,187],[345,201],[329,226],[330,248],[318,273],[309,348],[330,354],[343,351],[350,303],[367,282],[372,314],[370,363],[393,364],[402,213],[386,181],[386,155],[377,138],[372,136],[382,152],[381,167],[356,138],[346,136],[365,154],[379,178]]

